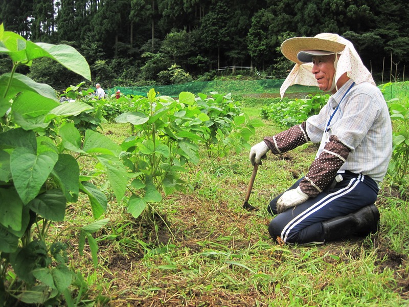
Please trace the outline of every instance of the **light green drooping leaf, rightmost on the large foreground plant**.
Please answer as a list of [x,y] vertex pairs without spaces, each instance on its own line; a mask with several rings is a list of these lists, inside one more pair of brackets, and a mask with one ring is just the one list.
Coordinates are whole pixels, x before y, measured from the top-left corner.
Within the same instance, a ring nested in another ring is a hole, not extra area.
[[99,155],[97,159],[105,167],[109,183],[119,204],[125,195],[128,183],[126,168],[117,157]]

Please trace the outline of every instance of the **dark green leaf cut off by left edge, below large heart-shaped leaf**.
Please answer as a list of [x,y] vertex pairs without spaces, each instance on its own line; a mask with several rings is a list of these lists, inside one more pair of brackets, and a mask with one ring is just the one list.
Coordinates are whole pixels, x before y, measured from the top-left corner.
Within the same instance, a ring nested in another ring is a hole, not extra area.
[[21,230],[24,204],[14,187],[0,188],[0,224],[15,231]]

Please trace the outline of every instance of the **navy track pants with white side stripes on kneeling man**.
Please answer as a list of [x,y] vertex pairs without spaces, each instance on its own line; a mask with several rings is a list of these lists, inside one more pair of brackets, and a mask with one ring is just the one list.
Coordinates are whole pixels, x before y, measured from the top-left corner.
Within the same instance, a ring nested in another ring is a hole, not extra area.
[[[375,203],[379,188],[369,176],[350,171],[338,171],[343,180],[326,188],[316,198],[276,215],[268,226],[271,237],[280,237],[285,243],[324,243],[321,222],[333,217],[345,216],[367,205]],[[290,189],[298,187],[298,180]],[[273,199],[267,207],[270,214],[277,214],[277,201]]]

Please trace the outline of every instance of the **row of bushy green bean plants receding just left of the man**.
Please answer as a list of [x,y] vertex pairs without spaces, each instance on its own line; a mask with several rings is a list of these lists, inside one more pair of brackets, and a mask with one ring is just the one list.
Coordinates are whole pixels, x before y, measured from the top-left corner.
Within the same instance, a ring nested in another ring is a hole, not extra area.
[[[213,158],[228,150],[249,148],[247,141],[260,120],[250,120],[232,103],[231,95],[213,97],[181,92],[178,99],[135,97],[134,112],[116,118],[131,125],[131,136],[121,144],[124,164],[131,173],[128,212],[152,217],[154,204],[175,190],[189,186],[180,178],[189,164],[197,164],[200,145],[213,151]],[[146,210],[145,210],[146,209]]]

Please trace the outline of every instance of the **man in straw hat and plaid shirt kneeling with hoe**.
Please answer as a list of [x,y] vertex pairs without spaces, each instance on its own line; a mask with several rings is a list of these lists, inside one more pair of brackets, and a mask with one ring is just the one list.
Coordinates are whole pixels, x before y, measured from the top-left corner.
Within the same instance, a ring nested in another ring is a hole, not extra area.
[[337,34],[285,40],[281,51],[296,63],[280,93],[292,84],[331,92],[318,115],[250,150],[261,164],[309,141],[319,143],[305,177],[273,199],[271,237],[285,243],[324,243],[349,235],[366,236],[379,227],[375,206],[379,183],[392,153],[392,126],[382,93],[352,43]]

